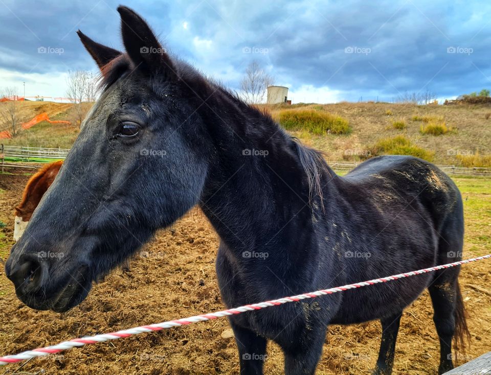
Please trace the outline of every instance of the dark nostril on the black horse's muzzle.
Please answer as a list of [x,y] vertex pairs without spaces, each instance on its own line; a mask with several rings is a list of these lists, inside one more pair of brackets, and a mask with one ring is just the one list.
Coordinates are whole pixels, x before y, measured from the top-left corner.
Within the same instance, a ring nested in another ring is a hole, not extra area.
[[19,263],[20,265],[8,275],[16,291],[21,294],[36,292],[42,285],[47,265],[35,259],[21,259]]

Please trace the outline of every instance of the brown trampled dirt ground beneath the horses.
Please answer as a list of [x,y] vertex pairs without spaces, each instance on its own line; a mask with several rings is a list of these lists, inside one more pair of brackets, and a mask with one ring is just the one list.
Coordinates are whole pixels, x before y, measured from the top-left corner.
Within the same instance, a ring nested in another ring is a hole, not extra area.
[[[18,203],[28,178],[25,173],[0,175],[0,221],[6,224],[0,228],[0,254],[4,260],[13,243],[12,207]],[[465,196],[466,200],[479,198],[472,190]],[[484,236],[488,241],[491,205],[480,212],[485,212],[485,217],[468,220],[470,224],[467,225],[472,227],[467,227],[466,239]],[[487,222],[483,223],[483,220]],[[482,229],[479,233],[473,229],[478,223],[486,226],[487,234]],[[213,228],[197,208],[193,209],[172,228],[161,231],[155,241],[131,262],[130,271],[115,271],[104,282],[95,285],[80,306],[63,314],[34,311],[24,306],[16,298],[1,267],[0,354],[14,354],[74,337],[223,309],[214,269],[217,245]],[[466,241],[464,257],[485,252],[489,252],[487,245],[483,250],[476,241]],[[460,283],[472,333],[470,349],[460,355],[460,361],[466,362],[491,350],[491,294],[488,292],[491,263],[482,261],[464,266]],[[437,373],[439,344],[432,314],[426,292],[405,311],[396,348],[395,374]],[[60,355],[33,359],[22,368],[15,364],[0,371],[5,374],[237,373],[236,345],[228,332],[227,320],[222,318],[72,349]],[[378,322],[331,326],[318,373],[370,373],[376,361],[380,336]],[[275,344],[269,345],[265,372],[283,372],[281,350]]]

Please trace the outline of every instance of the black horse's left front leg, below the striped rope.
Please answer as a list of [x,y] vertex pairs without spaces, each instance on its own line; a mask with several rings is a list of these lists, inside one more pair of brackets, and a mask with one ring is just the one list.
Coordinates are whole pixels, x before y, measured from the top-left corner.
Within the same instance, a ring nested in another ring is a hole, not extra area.
[[266,359],[266,339],[255,332],[235,324],[229,319],[239,349],[241,375],[262,375]]

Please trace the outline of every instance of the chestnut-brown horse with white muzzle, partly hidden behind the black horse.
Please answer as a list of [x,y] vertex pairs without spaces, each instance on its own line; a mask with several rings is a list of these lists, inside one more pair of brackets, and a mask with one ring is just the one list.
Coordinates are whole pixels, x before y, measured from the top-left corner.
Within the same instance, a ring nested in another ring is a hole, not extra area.
[[24,233],[32,213],[58,174],[63,160],[52,162],[36,172],[26,184],[22,201],[15,207],[14,241]]

